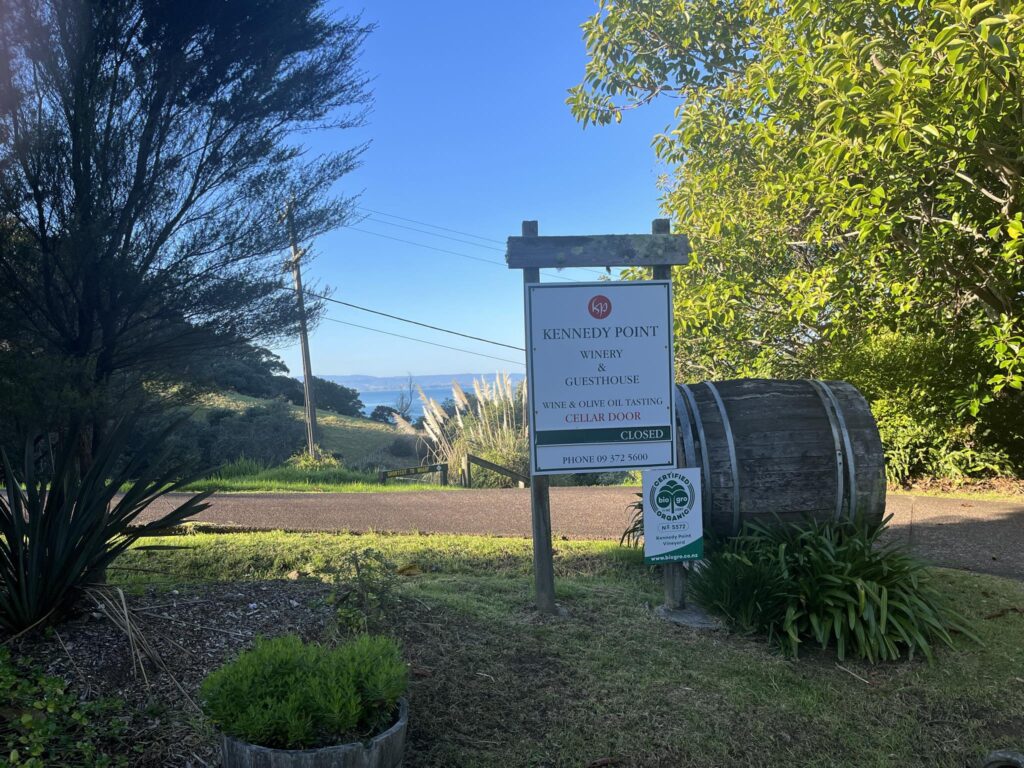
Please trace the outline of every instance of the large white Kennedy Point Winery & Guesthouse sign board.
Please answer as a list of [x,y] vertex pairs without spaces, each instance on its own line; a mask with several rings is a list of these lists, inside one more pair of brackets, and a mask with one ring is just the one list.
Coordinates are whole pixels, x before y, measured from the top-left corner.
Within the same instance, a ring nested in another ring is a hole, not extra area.
[[669,281],[526,286],[534,474],[676,466]]

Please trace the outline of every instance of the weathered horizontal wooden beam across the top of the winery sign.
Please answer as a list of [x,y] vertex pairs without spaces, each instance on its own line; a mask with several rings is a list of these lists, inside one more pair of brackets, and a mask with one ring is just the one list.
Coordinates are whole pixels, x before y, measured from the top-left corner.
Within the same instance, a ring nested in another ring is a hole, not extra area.
[[[524,232],[527,224],[537,225],[524,221]],[[655,219],[654,230],[666,233],[509,238],[505,261],[509,269],[672,266],[689,262],[690,242],[685,234],[669,234],[667,219]]]

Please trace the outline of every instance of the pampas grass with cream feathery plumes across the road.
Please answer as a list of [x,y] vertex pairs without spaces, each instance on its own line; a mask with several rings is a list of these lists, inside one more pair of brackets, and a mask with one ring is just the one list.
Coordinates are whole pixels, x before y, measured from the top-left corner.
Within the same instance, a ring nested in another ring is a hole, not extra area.
[[[529,474],[529,443],[526,427],[526,387],[512,384],[507,374],[494,382],[473,380],[470,398],[458,382],[452,383],[454,413],[420,389],[423,421],[431,458],[458,470],[467,454],[520,474]],[[474,471],[477,484],[508,485],[506,477],[486,470]]]

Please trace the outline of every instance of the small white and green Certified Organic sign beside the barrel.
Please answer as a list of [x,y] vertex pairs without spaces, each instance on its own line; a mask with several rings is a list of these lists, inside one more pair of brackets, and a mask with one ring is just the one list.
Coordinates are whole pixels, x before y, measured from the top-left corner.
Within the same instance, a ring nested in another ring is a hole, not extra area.
[[703,557],[700,470],[643,473],[643,561],[698,560]]

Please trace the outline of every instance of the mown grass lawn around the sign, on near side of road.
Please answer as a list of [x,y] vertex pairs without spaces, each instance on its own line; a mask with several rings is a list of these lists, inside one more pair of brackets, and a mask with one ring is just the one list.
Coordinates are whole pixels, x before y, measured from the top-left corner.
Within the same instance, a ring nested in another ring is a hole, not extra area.
[[1024,749],[1017,582],[937,573],[982,645],[940,648],[932,665],[840,665],[666,624],[651,611],[656,574],[608,542],[556,543],[568,610],[557,618],[531,607],[527,540],[195,534],[147,544],[181,549],[125,555],[111,578],[129,592],[289,574],[273,584],[298,589],[366,547],[393,560],[400,600],[389,623],[412,667],[409,767],[959,767]]

